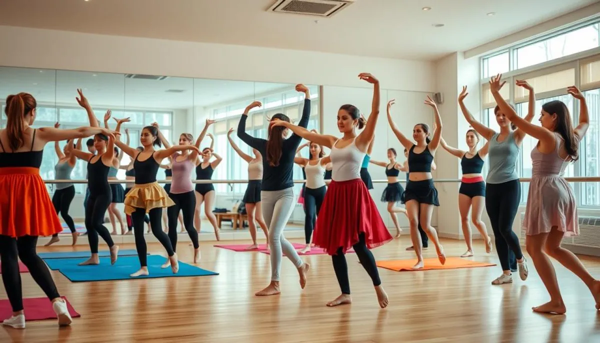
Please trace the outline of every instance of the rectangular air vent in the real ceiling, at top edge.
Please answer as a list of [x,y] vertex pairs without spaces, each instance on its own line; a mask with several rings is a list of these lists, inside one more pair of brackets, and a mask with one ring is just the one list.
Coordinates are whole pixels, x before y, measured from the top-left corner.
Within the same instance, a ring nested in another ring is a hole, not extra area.
[[268,11],[331,17],[356,0],[277,0]]

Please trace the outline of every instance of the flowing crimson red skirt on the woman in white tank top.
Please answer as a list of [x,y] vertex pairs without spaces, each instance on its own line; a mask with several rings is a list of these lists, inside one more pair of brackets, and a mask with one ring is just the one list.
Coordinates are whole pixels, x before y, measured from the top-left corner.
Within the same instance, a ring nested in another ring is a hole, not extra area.
[[344,253],[365,234],[367,248],[377,248],[392,240],[371,194],[361,179],[331,181],[317,216],[313,243],[329,255],[339,248]]

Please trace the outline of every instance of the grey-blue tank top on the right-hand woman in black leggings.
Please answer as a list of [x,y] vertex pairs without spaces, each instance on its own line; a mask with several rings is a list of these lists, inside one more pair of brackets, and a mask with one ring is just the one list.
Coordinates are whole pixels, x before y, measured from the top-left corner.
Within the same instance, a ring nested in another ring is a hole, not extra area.
[[519,178],[516,167],[520,149],[515,142],[515,133],[512,131],[503,142],[497,141],[498,135],[494,134],[490,140],[490,171],[487,183],[504,183]]

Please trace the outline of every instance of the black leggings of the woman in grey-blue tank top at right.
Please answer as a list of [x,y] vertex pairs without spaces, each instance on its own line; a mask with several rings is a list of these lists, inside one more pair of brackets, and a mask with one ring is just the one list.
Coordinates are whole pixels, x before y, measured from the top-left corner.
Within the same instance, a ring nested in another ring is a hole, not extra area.
[[521,182],[488,183],[485,188],[485,209],[490,217],[496,240],[496,251],[502,270],[516,270],[517,260],[523,258],[517,234],[512,231],[519,202]]

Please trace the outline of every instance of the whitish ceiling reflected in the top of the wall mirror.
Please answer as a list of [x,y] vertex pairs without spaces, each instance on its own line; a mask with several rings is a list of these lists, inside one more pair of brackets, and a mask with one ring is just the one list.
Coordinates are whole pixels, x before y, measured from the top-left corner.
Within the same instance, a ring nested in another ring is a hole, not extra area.
[[[249,101],[256,95],[294,92],[285,83],[168,77],[164,80],[127,79],[124,74],[0,67],[0,102],[25,90],[40,103],[73,104],[82,88],[92,106],[137,109],[188,109]],[[173,92],[175,91],[175,92]]]

